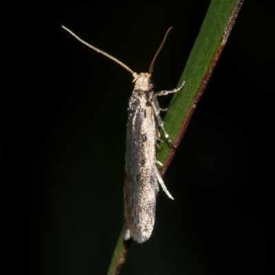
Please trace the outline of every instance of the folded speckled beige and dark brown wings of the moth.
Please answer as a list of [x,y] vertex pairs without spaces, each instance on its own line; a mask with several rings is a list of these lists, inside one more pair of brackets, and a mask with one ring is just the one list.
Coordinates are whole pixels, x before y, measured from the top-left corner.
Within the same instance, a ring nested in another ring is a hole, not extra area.
[[135,89],[129,99],[124,182],[124,239],[143,243],[155,223],[158,182],[155,166],[156,126],[148,96]]

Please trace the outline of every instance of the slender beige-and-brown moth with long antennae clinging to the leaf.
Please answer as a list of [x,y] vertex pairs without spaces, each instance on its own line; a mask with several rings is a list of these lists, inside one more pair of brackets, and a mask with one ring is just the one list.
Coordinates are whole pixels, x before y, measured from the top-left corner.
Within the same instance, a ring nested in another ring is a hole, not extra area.
[[162,49],[166,36],[157,50],[148,73],[137,74],[117,58],[90,45],[80,39],[74,32],[62,26],[78,41],[87,45],[92,50],[107,56],[133,75],[135,87],[129,99],[128,118],[126,125],[126,153],[125,153],[125,181],[124,181],[124,240],[133,239],[137,243],[148,240],[155,223],[155,203],[162,186],[170,199],[173,197],[168,192],[156,164],[162,165],[155,157],[157,141],[160,140],[159,127],[164,131],[170,146],[174,146],[166,130],[164,122],[159,115],[157,96],[166,96],[175,93],[184,87],[184,82],[177,89],[170,91],[153,92],[151,74],[155,59]]

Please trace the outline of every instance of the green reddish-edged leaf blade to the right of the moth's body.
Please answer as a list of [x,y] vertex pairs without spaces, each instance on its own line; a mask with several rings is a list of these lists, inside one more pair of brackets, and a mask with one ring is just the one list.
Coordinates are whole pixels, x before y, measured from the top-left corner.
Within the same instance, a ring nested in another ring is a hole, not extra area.
[[[184,87],[173,96],[164,118],[165,128],[177,146],[184,136],[192,113],[201,98],[212,71],[219,60],[243,1],[212,0],[201,30],[186,63],[179,85]],[[179,86],[178,85],[178,86]],[[165,140],[165,137],[162,137]],[[162,175],[173,159],[174,148],[168,142],[160,144],[157,160],[164,164]]]

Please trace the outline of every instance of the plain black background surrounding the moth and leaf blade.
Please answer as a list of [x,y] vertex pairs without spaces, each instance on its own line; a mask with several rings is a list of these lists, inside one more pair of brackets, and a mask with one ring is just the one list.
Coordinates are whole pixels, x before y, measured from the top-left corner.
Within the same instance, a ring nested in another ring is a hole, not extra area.
[[[135,72],[173,89],[210,1],[3,5],[3,274],[106,274],[122,228],[124,140]],[[151,238],[122,274],[274,269],[274,9],[245,1],[164,177]],[[166,107],[170,98],[161,101]],[[2,273],[2,272],[1,272]]]

